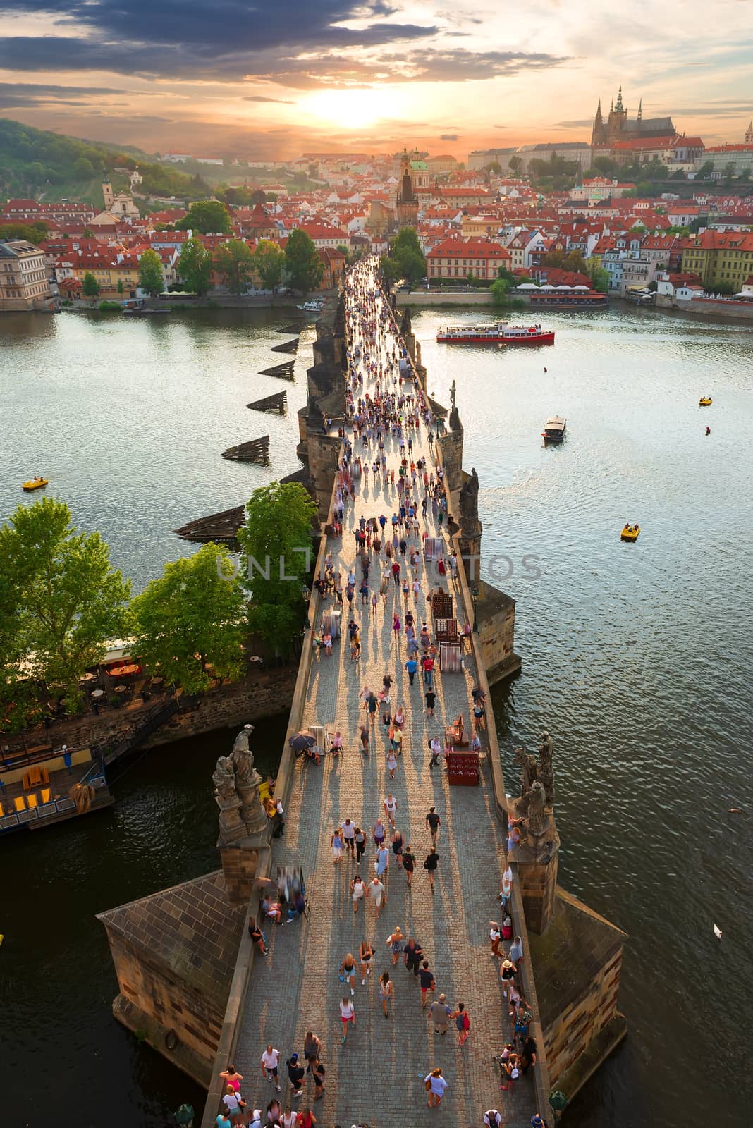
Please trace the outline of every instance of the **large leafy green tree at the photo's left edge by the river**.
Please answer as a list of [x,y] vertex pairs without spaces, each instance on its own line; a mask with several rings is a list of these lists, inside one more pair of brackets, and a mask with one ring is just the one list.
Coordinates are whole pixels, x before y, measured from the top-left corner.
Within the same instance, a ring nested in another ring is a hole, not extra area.
[[[15,608],[11,658],[47,685],[74,688],[123,634],[130,583],[98,532],[78,532],[64,502],[19,505],[0,528],[3,596]],[[3,650],[8,653],[6,644]]]

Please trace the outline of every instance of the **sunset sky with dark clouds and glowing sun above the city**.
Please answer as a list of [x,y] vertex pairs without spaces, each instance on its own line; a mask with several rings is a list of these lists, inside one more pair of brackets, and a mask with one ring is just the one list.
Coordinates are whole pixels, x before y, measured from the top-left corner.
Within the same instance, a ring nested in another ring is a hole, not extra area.
[[753,116],[753,0],[2,0],[0,116],[246,158],[590,140],[635,113],[707,144]]

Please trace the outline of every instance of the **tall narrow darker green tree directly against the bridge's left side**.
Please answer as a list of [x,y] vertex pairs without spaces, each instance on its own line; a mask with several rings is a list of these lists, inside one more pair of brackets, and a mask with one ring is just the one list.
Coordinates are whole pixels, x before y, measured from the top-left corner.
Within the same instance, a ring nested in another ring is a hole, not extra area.
[[249,627],[278,654],[290,651],[304,622],[301,588],[311,571],[315,515],[300,483],[272,482],[254,491],[238,531]]

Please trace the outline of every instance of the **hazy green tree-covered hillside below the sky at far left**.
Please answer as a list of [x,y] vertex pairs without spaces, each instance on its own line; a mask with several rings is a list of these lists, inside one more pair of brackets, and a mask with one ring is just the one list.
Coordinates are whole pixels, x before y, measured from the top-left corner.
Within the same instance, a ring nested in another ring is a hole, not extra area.
[[143,176],[139,192],[144,195],[153,193],[181,200],[209,195],[201,177],[166,168],[131,146],[118,149],[0,118],[0,197],[65,197],[88,200],[101,206],[103,171],[106,169],[110,174],[115,187],[122,187],[125,175],[113,170],[115,167],[135,168],[136,165]]

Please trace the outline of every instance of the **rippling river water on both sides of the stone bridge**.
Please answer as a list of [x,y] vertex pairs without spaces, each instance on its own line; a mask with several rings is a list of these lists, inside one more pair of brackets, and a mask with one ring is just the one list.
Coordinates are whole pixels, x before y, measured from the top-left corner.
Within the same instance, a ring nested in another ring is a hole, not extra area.
[[[293,385],[256,374],[284,359],[269,350],[290,319],[6,315],[0,517],[44,472],[142,587],[191,550],[172,528],[296,467],[312,331]],[[547,315],[553,346],[498,350],[436,344],[446,319],[424,311],[414,329],[429,391],[449,403],[455,381],[485,572],[517,600],[523,672],[494,694],[508,786],[512,749],[534,749],[548,728],[560,881],[629,934],[630,1034],[568,1122],[748,1123],[753,333],[615,307]],[[286,418],[246,409],[283,387]],[[706,393],[714,405],[701,409]],[[552,414],[566,416],[566,440],[544,449]],[[220,458],[267,432],[272,467]],[[641,526],[635,545],[620,541],[626,520]],[[278,720],[262,734],[269,755],[283,732]],[[14,1037],[1,1068],[14,1128],[46,1122],[41,1098],[61,1122],[99,1125],[107,1108],[113,1128],[158,1128],[184,1099],[201,1108],[195,1087],[112,1019],[115,978],[92,918],[216,864],[210,772],[228,735],[126,765],[112,812],[3,840],[0,984]]]

